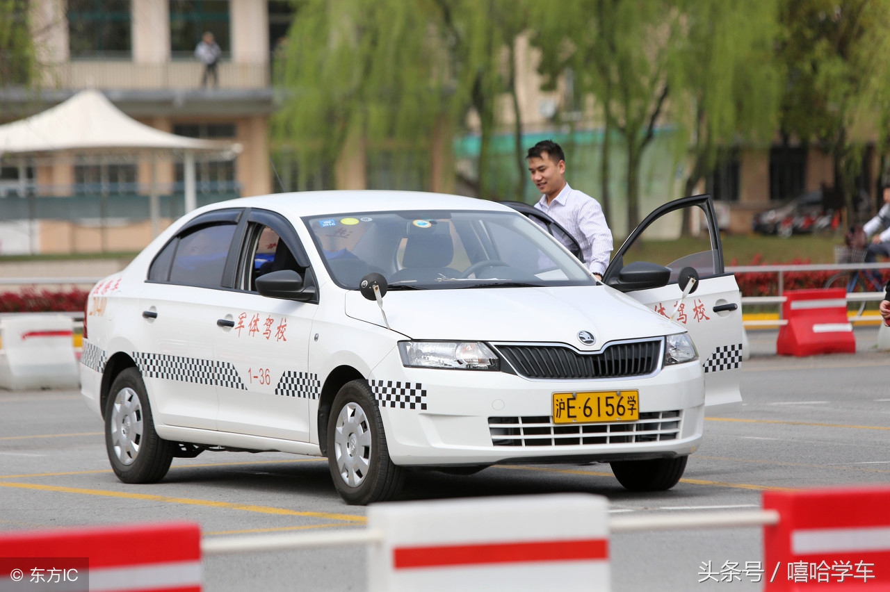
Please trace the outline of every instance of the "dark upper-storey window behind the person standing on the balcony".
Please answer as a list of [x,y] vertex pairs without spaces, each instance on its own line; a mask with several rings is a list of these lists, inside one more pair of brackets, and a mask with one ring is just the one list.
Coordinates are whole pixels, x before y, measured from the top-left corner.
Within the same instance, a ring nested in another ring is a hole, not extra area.
[[206,31],[223,50],[231,52],[229,0],[170,0],[170,54],[193,59],[195,48]]

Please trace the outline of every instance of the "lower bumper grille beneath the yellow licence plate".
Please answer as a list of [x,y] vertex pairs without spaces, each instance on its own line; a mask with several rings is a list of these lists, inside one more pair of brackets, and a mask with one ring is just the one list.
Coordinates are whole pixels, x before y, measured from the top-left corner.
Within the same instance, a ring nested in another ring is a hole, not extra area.
[[640,419],[621,423],[554,424],[553,418],[490,417],[491,444],[495,446],[586,446],[635,444],[676,440],[683,413],[646,412]]

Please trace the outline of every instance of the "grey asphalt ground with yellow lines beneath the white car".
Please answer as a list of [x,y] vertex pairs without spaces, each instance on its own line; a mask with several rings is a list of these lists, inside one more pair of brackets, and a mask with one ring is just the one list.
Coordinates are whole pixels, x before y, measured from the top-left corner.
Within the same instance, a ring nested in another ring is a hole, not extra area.
[[[401,499],[590,492],[610,500],[613,516],[655,516],[760,508],[772,489],[887,484],[890,352],[872,347],[875,335],[857,329],[855,355],[791,358],[773,356],[775,332],[750,332],[745,403],[706,420],[704,443],[669,492],[625,492],[608,465],[551,465],[416,473]],[[215,539],[364,526],[365,508],[340,500],[325,460],[205,452],[174,460],[159,484],[127,485],[109,468],[101,430],[77,392],[0,391],[0,530],[185,519]],[[774,567],[763,564],[761,539],[751,527],[613,534],[612,589],[760,589],[758,568],[769,579]],[[720,581],[727,562],[748,572]],[[365,572],[358,546],[207,556],[204,589],[365,590]]]

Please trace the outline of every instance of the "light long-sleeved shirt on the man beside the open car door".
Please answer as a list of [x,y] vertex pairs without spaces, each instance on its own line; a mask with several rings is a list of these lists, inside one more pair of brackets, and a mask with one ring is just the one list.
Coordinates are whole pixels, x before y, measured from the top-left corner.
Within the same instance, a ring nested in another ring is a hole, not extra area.
[[578,246],[581,247],[587,268],[591,273],[602,276],[609,265],[612,238],[599,202],[585,193],[570,188],[566,183],[549,205],[547,196],[541,196],[535,207],[556,220],[562,228],[574,236]]

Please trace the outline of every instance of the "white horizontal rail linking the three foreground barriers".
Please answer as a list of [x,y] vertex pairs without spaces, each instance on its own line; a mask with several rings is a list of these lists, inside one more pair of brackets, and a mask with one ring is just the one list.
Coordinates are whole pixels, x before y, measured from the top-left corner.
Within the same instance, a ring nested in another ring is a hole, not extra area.
[[[779,524],[776,510],[737,510],[733,512],[701,512],[669,516],[613,516],[609,519],[612,534],[673,529],[736,528]],[[343,532],[287,532],[283,534],[255,534],[225,539],[202,539],[204,555],[277,551],[283,549],[337,547],[340,545],[378,545],[384,542],[384,532],[371,529],[351,529]]]

